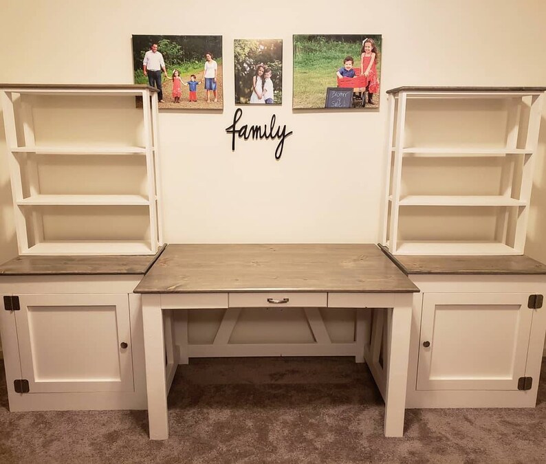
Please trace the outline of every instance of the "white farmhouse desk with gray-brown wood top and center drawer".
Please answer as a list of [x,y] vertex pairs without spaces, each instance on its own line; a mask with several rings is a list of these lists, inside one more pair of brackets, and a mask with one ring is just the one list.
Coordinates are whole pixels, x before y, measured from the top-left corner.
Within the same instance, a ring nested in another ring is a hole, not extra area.
[[385,400],[384,434],[401,437],[417,291],[370,244],[168,245],[135,288],[142,294],[150,438],[168,438],[167,395],[178,364],[172,318],[163,313],[279,305],[379,309],[363,354]]

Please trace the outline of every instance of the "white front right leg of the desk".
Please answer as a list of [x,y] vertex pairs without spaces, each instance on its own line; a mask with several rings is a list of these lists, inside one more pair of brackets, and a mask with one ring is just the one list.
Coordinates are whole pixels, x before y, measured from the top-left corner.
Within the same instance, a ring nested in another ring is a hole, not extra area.
[[392,309],[387,353],[385,389],[385,437],[404,435],[406,383],[408,379],[409,340],[411,332],[412,295],[396,297]]

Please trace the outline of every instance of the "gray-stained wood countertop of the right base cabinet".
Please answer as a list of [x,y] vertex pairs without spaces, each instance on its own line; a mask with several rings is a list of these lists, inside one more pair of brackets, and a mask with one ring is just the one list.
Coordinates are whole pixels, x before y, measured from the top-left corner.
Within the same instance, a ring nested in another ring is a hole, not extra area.
[[393,256],[405,274],[546,274],[546,266],[529,256]]

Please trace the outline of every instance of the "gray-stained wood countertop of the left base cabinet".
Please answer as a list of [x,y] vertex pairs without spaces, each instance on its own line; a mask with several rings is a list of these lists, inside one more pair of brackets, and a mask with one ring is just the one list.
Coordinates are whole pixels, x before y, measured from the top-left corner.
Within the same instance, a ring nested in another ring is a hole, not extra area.
[[0,276],[146,274],[158,256],[18,256],[0,265]]

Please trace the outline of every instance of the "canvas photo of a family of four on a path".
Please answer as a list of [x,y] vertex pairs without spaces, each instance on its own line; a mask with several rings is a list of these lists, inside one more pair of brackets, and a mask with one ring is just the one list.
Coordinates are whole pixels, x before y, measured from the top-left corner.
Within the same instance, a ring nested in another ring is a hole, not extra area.
[[222,37],[133,35],[135,84],[160,89],[160,109],[222,109]]

